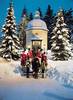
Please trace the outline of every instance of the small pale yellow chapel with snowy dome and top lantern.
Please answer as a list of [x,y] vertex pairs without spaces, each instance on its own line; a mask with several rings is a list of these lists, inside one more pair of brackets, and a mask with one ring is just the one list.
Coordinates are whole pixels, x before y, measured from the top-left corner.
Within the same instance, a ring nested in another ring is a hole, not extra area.
[[40,19],[39,12],[36,11],[35,17],[26,28],[26,48],[41,48],[47,50],[48,29],[46,23]]

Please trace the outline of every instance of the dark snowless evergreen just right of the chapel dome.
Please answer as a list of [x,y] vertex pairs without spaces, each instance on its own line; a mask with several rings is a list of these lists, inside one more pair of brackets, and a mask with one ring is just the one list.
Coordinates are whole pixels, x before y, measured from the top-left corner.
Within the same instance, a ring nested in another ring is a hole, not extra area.
[[51,32],[53,30],[53,27],[54,27],[54,23],[55,23],[55,19],[54,19],[54,16],[53,16],[53,10],[51,9],[51,6],[48,5],[48,8],[47,8],[47,11],[46,11],[46,14],[44,16],[44,19],[43,19],[46,24],[47,24],[47,28],[48,28],[48,49],[51,48]]

